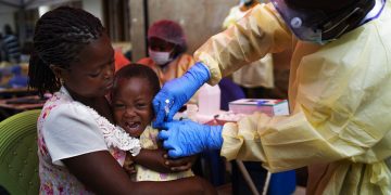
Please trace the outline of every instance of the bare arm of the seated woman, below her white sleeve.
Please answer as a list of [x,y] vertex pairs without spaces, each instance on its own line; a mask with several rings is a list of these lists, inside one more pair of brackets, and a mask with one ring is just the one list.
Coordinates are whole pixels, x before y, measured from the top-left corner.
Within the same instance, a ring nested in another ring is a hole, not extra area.
[[97,194],[216,194],[198,177],[167,182],[131,182],[108,151],[62,159],[70,171]]

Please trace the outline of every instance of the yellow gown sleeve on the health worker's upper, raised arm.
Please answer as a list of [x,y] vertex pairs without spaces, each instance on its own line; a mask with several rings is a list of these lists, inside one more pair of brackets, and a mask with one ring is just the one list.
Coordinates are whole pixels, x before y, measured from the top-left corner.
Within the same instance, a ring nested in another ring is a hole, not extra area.
[[238,23],[210,38],[195,51],[194,60],[209,67],[209,83],[216,84],[243,64],[289,48],[291,38],[273,4],[258,4]]

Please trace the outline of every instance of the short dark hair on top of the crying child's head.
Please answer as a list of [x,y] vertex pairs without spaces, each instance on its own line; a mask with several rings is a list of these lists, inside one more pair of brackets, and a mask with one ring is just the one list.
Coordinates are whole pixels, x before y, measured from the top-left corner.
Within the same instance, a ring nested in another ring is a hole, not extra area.
[[129,64],[122,67],[114,77],[114,88],[113,92],[117,90],[117,82],[119,79],[130,79],[130,78],[144,78],[149,81],[149,88],[152,90],[152,94],[155,95],[160,90],[160,81],[156,73],[141,64]]

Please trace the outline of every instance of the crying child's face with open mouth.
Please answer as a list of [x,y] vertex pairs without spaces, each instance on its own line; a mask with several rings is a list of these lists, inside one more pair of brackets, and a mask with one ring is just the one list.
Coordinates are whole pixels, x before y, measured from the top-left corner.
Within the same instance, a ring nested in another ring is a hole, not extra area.
[[153,119],[151,84],[146,78],[123,78],[112,94],[115,122],[131,136],[140,136]]

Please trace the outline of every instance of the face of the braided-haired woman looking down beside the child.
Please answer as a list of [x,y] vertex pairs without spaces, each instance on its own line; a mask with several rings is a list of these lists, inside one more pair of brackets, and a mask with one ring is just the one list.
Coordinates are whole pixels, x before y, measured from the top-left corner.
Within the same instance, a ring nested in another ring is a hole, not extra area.
[[108,94],[113,87],[114,76],[114,50],[110,38],[103,34],[87,44],[79,58],[62,76],[66,89],[81,98]]

